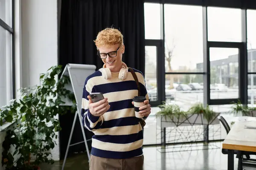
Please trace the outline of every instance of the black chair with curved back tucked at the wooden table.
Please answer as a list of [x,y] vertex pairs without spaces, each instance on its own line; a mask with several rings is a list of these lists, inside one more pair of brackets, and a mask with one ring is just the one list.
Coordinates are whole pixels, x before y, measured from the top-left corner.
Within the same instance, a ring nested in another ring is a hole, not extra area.
[[[227,134],[230,132],[230,126],[228,125],[227,121],[224,119],[223,116],[219,117],[219,120],[221,121],[222,125],[224,126]],[[223,154],[227,154],[227,149],[221,150]],[[234,154],[236,154],[236,158],[238,158],[238,168],[237,170],[243,170],[243,156],[246,156],[246,160],[253,161],[253,159],[250,159],[250,155],[256,155],[254,152],[247,152],[247,151],[241,151],[241,150],[234,150]],[[248,166],[254,166],[254,164],[246,164]]]

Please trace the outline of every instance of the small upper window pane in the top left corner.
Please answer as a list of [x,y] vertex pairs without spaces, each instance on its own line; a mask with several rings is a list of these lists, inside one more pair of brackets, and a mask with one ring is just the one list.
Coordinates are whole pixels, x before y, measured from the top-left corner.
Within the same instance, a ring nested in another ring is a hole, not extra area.
[[0,0],[0,19],[12,27],[12,0]]

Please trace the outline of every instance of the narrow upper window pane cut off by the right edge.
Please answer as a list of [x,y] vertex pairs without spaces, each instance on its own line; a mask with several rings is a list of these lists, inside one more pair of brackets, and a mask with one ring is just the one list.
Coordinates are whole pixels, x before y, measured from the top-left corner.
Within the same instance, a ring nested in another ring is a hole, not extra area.
[[[256,72],[256,10],[247,10],[248,72]],[[250,84],[249,84],[250,85]]]

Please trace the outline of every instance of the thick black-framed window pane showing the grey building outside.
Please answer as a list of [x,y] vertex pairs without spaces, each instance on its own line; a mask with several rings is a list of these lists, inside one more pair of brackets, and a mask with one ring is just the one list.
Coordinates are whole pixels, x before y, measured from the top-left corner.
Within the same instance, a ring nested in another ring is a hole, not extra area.
[[210,48],[210,99],[239,97],[238,48]]

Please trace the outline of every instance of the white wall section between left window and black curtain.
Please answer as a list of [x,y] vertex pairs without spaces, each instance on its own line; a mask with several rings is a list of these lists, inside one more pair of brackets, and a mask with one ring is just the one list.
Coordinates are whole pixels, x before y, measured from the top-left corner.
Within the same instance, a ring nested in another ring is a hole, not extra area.
[[[40,74],[58,64],[57,0],[21,0],[22,87],[39,85]],[[59,160],[59,142],[52,150]]]

